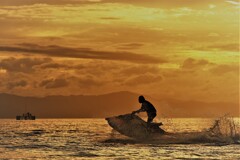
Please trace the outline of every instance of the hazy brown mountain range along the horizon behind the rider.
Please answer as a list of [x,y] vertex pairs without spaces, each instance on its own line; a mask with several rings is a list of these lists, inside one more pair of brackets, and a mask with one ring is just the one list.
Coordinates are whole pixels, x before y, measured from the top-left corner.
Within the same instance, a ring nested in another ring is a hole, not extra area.
[[[104,95],[22,97],[0,94],[0,118],[15,118],[28,111],[37,118],[103,118],[131,113],[140,108],[138,94],[122,91]],[[239,104],[226,102],[181,101],[153,99],[146,96],[158,110],[158,117],[239,116]]]

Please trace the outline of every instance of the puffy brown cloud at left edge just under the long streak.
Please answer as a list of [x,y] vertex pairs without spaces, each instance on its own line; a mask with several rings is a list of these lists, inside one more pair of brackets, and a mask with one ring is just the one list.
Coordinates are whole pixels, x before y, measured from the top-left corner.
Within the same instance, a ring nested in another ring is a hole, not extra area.
[[31,73],[34,67],[43,63],[51,62],[50,58],[14,58],[10,57],[0,61],[0,68],[10,72]]

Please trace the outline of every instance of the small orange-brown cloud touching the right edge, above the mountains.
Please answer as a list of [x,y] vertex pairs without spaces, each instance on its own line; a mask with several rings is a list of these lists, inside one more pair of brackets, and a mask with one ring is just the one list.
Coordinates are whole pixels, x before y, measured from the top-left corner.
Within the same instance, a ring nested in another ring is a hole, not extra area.
[[239,66],[238,65],[218,65],[210,70],[212,73],[217,75],[223,75],[225,73],[236,73],[236,75],[239,75]]

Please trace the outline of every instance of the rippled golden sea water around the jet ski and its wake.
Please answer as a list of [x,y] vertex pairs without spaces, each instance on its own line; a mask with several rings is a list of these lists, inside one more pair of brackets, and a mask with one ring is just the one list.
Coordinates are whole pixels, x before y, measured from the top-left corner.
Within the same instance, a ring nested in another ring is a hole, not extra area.
[[[214,120],[162,119],[168,132],[203,132]],[[234,119],[239,127],[239,119]],[[114,131],[104,119],[0,120],[0,159],[240,159],[240,145],[226,142],[140,142]],[[227,128],[225,128],[227,130]],[[228,132],[228,131],[227,131]],[[187,137],[185,137],[187,139]],[[239,139],[237,140],[239,141]]]

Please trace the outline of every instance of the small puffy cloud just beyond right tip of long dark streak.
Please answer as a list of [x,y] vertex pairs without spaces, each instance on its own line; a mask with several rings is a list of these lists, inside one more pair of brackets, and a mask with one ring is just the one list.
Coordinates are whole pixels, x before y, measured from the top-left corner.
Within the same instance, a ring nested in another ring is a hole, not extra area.
[[211,64],[209,61],[205,60],[205,59],[200,59],[200,60],[196,60],[193,58],[187,58],[183,64],[182,64],[182,68],[183,69],[196,69],[197,67],[203,67],[206,66],[208,64]]

